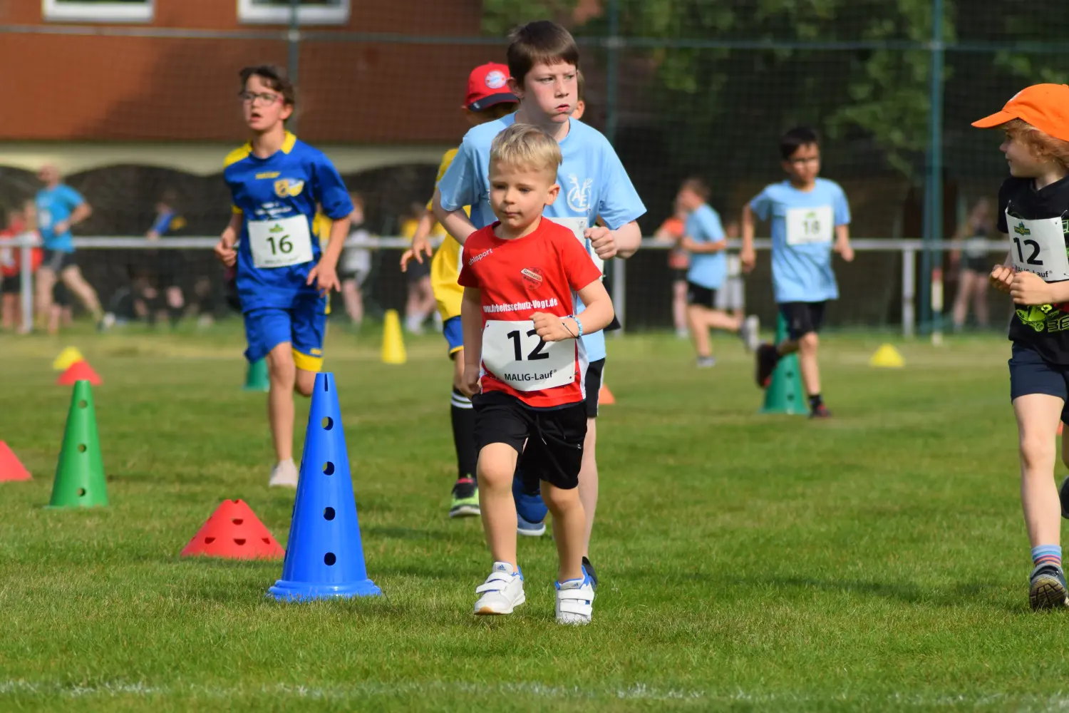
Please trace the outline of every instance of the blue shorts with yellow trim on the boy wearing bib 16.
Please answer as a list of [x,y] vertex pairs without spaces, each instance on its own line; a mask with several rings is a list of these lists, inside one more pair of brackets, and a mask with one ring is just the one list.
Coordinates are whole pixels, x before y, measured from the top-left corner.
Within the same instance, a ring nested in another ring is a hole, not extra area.
[[262,307],[245,313],[245,358],[259,361],[278,346],[293,346],[297,369],[317,372],[323,368],[323,337],[327,330],[326,307],[317,296],[298,297],[290,309]]

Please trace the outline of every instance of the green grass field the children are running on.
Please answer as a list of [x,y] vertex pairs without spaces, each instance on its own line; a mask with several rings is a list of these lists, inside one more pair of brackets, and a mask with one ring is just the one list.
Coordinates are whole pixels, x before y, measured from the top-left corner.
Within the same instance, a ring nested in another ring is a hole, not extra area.
[[[609,345],[594,622],[554,623],[555,551],[520,542],[528,602],[470,616],[489,557],[446,517],[449,363],[336,330],[337,375],[376,600],[282,605],[281,562],[183,560],[223,498],[285,543],[262,394],[241,335],[0,337],[0,439],[34,474],[0,484],[0,710],[876,711],[1069,709],[1069,613],[1027,605],[1008,343],[824,342],[836,417],[763,417],[749,358],[692,367],[668,337]],[[49,511],[78,345],[110,507]],[[307,405],[298,409],[298,448]],[[299,451],[298,451],[299,452]]]

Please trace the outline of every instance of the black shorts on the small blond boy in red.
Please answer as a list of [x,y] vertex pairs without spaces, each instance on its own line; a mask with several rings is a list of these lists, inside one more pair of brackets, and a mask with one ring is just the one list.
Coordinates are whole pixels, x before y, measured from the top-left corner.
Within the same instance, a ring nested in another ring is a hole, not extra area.
[[491,444],[514,448],[520,453],[517,470],[528,492],[537,491],[540,480],[566,491],[579,484],[583,441],[587,437],[587,414],[582,403],[534,409],[515,397],[492,391],[471,397],[471,404],[479,450]]

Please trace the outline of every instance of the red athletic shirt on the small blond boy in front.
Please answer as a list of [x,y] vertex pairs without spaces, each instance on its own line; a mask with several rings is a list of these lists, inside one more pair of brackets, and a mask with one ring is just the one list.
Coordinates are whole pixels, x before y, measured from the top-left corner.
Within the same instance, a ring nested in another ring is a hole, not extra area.
[[497,224],[465,241],[458,279],[482,294],[482,390],[532,408],[578,403],[586,398],[583,340],[543,342],[530,316],[573,314],[574,293],[600,280],[601,270],[571,230],[547,218],[511,241],[494,236]]

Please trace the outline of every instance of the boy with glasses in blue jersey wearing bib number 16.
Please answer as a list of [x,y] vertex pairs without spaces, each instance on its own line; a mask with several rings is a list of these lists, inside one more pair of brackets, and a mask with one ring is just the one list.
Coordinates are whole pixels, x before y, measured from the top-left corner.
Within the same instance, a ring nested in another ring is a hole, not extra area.
[[[242,69],[248,143],[227,156],[223,177],[234,213],[215,251],[237,266],[249,362],[267,359],[267,413],[277,464],[270,485],[296,487],[293,462],[294,390],[311,396],[323,361],[327,294],[339,290],[336,265],[348,234],[353,203],[322,152],[285,130],[293,84],[277,67]],[[316,203],[334,222],[321,247]]]

